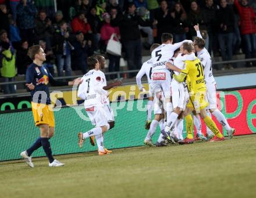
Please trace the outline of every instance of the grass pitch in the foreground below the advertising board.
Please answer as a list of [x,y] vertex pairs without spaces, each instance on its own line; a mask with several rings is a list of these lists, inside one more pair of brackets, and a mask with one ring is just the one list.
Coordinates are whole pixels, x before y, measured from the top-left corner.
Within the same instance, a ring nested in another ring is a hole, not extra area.
[[0,197],[256,197],[256,135],[56,159],[0,163]]

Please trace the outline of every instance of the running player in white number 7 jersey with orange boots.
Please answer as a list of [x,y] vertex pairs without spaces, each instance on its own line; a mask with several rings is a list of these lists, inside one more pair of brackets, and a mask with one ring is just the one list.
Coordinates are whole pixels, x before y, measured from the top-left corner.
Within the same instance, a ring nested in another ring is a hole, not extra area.
[[108,131],[110,126],[106,112],[103,109],[104,105],[102,104],[102,100],[104,100],[109,93],[102,88],[104,87],[104,79],[102,78],[102,72],[99,70],[98,60],[95,57],[88,57],[87,64],[88,67],[94,67],[94,69],[88,71],[87,74],[81,78],[81,85],[79,86],[77,96],[84,100],[84,108],[95,128],[85,133],[78,133],[79,146],[81,148],[86,138],[95,135],[98,145],[98,154],[106,155],[109,151],[104,148],[104,137],[102,134]]

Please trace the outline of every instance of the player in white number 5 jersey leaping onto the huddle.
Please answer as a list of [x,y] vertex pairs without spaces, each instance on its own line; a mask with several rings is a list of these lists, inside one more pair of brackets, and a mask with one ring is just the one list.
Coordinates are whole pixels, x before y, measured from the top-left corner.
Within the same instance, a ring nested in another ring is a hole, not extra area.
[[[152,75],[151,75],[151,85],[154,94],[159,98],[159,93],[163,91],[163,95],[166,100],[166,116],[167,124],[165,127],[166,133],[170,131],[171,120],[173,120],[172,113],[172,102],[170,101],[170,71],[166,68],[166,62],[173,57],[176,49],[178,49],[183,42],[172,44],[173,36],[169,33],[163,33],[161,36],[162,45],[154,49],[151,53],[152,57]],[[175,118],[175,120],[177,117]]]

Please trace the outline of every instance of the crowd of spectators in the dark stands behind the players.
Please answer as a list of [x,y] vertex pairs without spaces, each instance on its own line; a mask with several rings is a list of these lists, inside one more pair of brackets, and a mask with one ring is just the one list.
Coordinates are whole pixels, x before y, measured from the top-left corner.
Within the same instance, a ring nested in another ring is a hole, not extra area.
[[[200,25],[212,56],[219,54],[224,61],[239,53],[256,58],[256,1],[57,0],[57,12],[54,2],[0,0],[0,67],[6,82],[13,80],[16,70],[18,75],[26,73],[31,45],[45,50],[45,64],[54,76],[70,76],[74,70],[85,74],[86,58],[92,54],[105,54],[113,72],[119,71],[120,56],[106,53],[106,45],[114,35],[122,42],[128,69],[140,69],[143,48],[161,43],[163,32],[172,33],[174,42],[193,39],[195,24]],[[6,68],[12,72],[6,74]],[[5,89],[5,93],[13,91],[13,87]]]

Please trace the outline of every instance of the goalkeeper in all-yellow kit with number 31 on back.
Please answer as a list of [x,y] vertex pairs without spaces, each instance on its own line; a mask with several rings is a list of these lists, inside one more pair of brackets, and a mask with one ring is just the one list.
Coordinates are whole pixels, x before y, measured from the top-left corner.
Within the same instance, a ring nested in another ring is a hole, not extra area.
[[[191,54],[194,51],[194,46],[191,43],[183,43],[180,47],[184,54]],[[214,121],[207,115],[205,108],[208,106],[208,102],[205,101],[206,86],[204,82],[204,69],[198,58],[193,61],[185,61],[184,69],[179,69],[175,65],[167,65],[169,69],[180,72],[179,75],[173,75],[173,78],[178,82],[187,80],[187,88],[190,94],[190,100],[186,106],[184,117],[187,126],[187,137],[184,140],[186,143],[193,143],[193,118],[191,111],[195,110],[200,113],[201,118],[204,120],[208,128],[215,134],[215,138],[211,141],[224,140],[223,135],[220,133]]]

